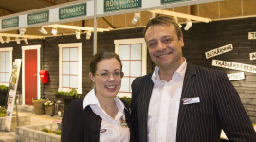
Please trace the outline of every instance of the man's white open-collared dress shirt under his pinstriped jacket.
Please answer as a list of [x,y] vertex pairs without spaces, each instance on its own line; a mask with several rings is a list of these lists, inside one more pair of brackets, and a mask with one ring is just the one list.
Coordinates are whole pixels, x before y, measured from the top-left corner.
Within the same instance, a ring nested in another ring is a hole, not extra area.
[[152,75],[154,87],[148,113],[148,142],[175,142],[179,104],[187,67],[186,59],[172,80],[160,80],[159,68]]

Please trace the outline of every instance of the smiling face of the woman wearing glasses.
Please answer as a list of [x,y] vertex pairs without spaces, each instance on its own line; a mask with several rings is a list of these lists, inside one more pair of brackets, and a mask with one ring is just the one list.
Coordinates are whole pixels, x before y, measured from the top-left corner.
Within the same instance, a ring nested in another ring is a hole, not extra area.
[[120,62],[115,59],[105,59],[97,64],[95,75],[89,74],[95,82],[96,96],[99,98],[115,98],[121,87]]

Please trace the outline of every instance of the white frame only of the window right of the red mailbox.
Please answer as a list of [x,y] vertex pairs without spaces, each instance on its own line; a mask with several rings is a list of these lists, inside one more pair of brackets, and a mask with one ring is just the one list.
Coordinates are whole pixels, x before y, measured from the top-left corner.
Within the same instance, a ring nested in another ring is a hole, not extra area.
[[69,44],[58,44],[59,46],[59,88],[58,91],[68,92],[70,91],[70,88],[62,88],[63,86],[63,78],[62,78],[62,72],[63,72],[63,65],[62,65],[62,59],[63,59],[63,48],[65,47],[78,47],[78,89],[77,93],[82,94],[82,43],[69,43]]

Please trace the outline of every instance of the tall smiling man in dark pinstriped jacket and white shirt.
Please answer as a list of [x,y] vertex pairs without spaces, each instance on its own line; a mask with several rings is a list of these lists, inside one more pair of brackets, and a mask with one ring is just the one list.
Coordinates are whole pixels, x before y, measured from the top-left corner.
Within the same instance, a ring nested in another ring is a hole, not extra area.
[[132,83],[132,139],[140,142],[256,142],[238,93],[224,72],[193,66],[182,56],[183,34],[169,17],[152,19],[144,38],[153,73]]

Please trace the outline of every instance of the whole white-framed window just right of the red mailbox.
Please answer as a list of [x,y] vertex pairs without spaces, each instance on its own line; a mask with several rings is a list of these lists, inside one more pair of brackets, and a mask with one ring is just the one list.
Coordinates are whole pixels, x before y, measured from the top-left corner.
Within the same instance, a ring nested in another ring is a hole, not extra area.
[[82,43],[59,44],[59,91],[82,94]]

